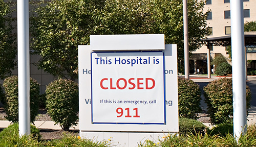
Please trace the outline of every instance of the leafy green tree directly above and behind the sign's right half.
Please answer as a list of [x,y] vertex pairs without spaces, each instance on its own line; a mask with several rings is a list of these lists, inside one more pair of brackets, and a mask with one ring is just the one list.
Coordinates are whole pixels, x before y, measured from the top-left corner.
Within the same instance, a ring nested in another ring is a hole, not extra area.
[[[177,44],[179,70],[183,70],[183,7],[178,1],[129,1],[109,0],[105,2],[104,21],[110,34],[165,34],[166,44]],[[188,0],[189,51],[201,47],[201,38],[206,37],[205,1]]]

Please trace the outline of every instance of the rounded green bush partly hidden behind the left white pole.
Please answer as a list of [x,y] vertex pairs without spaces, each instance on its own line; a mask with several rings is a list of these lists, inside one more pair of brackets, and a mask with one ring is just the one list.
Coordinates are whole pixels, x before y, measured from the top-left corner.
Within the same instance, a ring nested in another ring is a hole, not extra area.
[[[4,80],[6,119],[18,122],[18,77],[11,76]],[[34,122],[38,112],[39,84],[30,78],[30,121]]]

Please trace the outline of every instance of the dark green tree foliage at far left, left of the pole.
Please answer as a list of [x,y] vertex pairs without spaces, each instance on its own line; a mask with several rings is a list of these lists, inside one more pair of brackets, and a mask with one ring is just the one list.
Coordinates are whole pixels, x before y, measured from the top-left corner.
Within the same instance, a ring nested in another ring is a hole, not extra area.
[[12,33],[14,21],[10,2],[0,0],[0,79],[6,78],[15,68],[17,54],[16,35]]

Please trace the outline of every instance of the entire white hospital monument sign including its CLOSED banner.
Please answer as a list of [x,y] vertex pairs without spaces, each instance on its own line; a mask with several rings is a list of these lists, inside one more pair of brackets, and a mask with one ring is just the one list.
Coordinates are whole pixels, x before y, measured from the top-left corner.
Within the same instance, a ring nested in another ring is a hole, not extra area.
[[78,46],[80,136],[136,146],[178,132],[176,44],[163,34],[90,39]]

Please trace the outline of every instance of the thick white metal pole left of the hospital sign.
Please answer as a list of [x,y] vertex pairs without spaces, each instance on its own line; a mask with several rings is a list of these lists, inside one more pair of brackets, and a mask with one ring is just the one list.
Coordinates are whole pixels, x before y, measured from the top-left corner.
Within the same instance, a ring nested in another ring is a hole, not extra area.
[[30,134],[29,1],[17,1],[19,135]]

